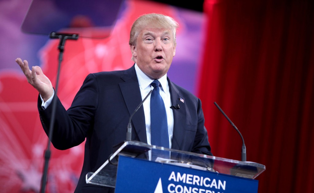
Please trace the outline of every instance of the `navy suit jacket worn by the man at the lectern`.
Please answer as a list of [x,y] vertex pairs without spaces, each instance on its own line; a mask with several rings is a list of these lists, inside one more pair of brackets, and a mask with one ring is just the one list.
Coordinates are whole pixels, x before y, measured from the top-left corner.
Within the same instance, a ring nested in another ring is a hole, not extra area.
[[[180,109],[173,109],[171,148],[212,155],[204,128],[201,101],[186,89],[172,83],[168,78],[167,80],[171,104],[180,105]],[[134,65],[127,70],[89,74],[68,110],[57,99],[51,141],[54,147],[65,150],[86,139],[82,173],[75,192],[114,191],[86,184],[85,175],[95,172],[113,153],[113,146],[126,139],[129,117],[141,101]],[[39,98],[38,109],[41,123],[48,135],[52,105],[43,110]],[[147,143],[143,107],[134,114],[132,124],[132,140]]]

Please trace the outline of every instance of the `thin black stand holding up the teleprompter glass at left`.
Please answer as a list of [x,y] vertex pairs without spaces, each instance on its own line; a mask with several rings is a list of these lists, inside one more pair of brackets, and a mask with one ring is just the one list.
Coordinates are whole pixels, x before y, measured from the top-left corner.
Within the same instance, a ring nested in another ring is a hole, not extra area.
[[[49,37],[51,39],[60,39],[58,50],[59,50],[59,64],[58,64],[58,71],[57,71],[57,80],[56,80],[56,87],[55,87],[55,94],[57,94],[58,91],[58,85],[59,85],[59,76],[60,76],[60,69],[61,69],[61,62],[63,58],[63,52],[64,52],[64,44],[65,40],[71,39],[71,40],[77,40],[78,34],[68,34],[68,33],[55,33],[52,32]],[[47,183],[47,174],[48,174],[48,164],[51,157],[51,150],[50,150],[50,141],[52,140],[52,133],[53,133],[53,127],[55,123],[55,116],[56,116],[56,107],[57,107],[57,97],[53,97],[52,100],[52,112],[51,112],[51,120],[49,125],[49,135],[48,135],[48,143],[47,143],[47,149],[45,150],[45,163],[44,163],[44,171],[41,178],[41,193],[45,192],[46,189],[46,183]]]

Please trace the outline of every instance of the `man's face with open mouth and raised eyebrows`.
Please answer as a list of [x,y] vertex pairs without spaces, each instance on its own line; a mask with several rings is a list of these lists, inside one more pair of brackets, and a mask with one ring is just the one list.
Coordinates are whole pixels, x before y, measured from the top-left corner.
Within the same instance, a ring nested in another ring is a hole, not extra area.
[[159,79],[168,72],[176,54],[174,38],[170,29],[144,28],[139,33],[131,51],[138,67],[146,75]]

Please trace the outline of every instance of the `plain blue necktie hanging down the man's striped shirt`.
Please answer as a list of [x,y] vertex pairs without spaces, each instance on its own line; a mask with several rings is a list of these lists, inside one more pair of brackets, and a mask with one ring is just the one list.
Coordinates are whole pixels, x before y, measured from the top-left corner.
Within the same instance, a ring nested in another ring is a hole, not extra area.
[[159,94],[158,80],[150,85],[154,87],[150,96],[150,128],[152,145],[169,148],[168,122],[165,104]]

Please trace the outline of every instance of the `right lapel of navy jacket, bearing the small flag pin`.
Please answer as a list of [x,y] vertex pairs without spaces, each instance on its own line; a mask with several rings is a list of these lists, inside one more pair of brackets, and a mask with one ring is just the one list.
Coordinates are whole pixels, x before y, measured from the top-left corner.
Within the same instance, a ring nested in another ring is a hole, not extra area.
[[[176,86],[168,79],[168,83],[170,85],[170,96],[171,96],[171,104],[176,105],[179,104],[180,109],[172,109],[173,111],[173,136],[172,136],[172,149],[179,150],[183,140],[183,130],[185,128],[185,120],[186,120],[186,106],[184,102],[180,99],[183,99],[182,96],[179,95],[178,89]],[[183,99],[184,101],[184,99]]]

